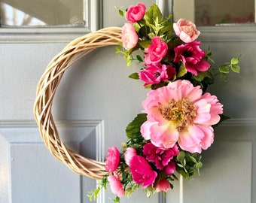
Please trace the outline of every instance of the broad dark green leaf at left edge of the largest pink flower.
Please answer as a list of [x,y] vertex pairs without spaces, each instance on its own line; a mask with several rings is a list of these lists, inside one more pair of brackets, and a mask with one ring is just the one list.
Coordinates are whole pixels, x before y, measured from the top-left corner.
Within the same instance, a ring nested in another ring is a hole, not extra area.
[[142,136],[140,129],[142,124],[147,120],[147,114],[138,114],[135,119],[126,127],[127,138],[133,139]]

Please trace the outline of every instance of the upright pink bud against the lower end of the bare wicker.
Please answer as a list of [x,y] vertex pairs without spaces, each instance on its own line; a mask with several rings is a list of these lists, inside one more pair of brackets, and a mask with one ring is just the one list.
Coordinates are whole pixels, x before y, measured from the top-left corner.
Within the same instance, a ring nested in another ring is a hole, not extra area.
[[108,154],[105,161],[105,170],[109,173],[113,173],[120,162],[120,153],[117,147],[108,148]]

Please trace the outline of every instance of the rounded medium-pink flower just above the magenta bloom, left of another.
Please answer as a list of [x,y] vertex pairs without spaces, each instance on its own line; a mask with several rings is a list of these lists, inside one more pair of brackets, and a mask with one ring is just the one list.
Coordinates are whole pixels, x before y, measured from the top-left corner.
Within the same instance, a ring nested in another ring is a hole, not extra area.
[[149,65],[151,63],[156,64],[163,59],[163,56],[166,56],[168,46],[162,41],[160,37],[152,38],[152,44],[145,49],[145,64]]

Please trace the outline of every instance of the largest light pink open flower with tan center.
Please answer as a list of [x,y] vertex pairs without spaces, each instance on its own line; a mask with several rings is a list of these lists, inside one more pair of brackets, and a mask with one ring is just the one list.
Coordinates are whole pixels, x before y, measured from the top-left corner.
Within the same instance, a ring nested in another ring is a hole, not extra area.
[[215,95],[204,95],[200,86],[188,80],[176,80],[148,92],[142,102],[148,120],[142,124],[142,136],[157,146],[201,153],[213,142],[212,125],[219,122],[222,105]]

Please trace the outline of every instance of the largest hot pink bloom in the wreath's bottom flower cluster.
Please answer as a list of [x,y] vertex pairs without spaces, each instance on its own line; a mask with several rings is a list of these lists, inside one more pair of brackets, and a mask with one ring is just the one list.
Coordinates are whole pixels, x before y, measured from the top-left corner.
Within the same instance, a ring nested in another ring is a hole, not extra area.
[[157,177],[157,172],[153,171],[151,165],[142,156],[133,156],[130,161],[130,171],[133,175],[133,180],[137,184],[142,184],[142,187],[152,186]]

